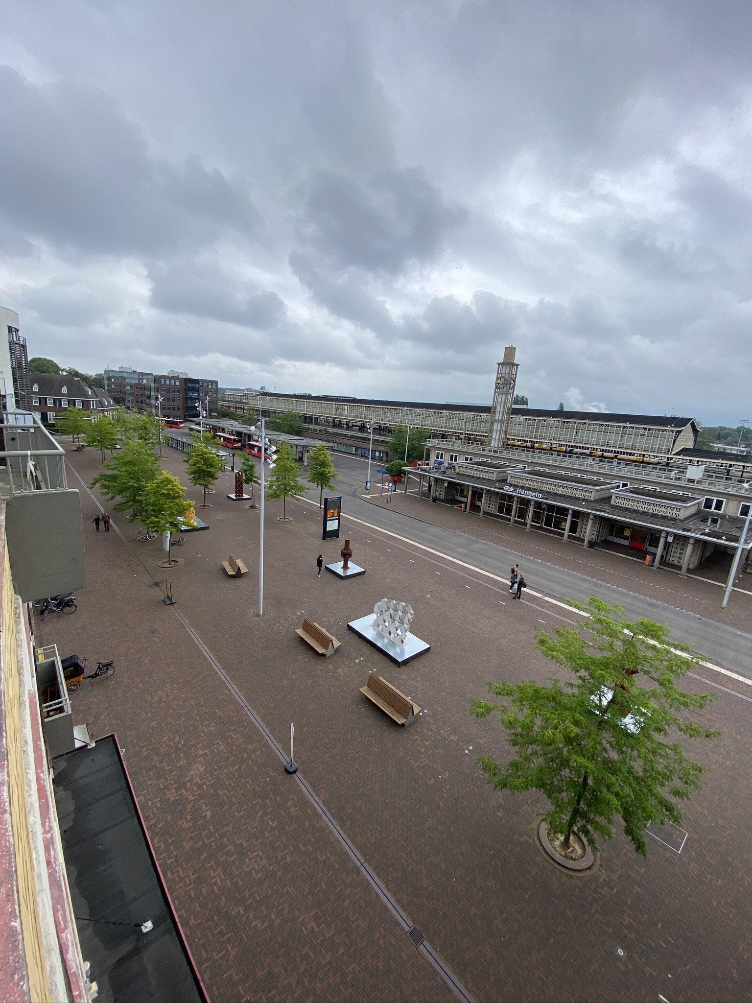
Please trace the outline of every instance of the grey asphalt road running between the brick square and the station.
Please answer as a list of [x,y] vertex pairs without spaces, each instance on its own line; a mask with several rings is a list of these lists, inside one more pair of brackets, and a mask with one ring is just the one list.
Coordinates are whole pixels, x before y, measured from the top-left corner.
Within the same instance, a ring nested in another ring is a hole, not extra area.
[[[372,526],[408,538],[502,579],[508,577],[511,565],[523,561],[535,591],[553,598],[566,596],[581,601],[587,601],[589,596],[598,595],[608,603],[618,603],[630,618],[635,620],[649,618],[667,624],[677,640],[691,644],[704,658],[752,678],[752,635],[727,627],[715,620],[687,613],[668,603],[647,599],[627,589],[606,585],[587,575],[568,571],[545,561],[477,540],[467,534],[432,526],[430,523],[423,523],[402,513],[370,505],[357,494],[358,488],[365,485],[366,463],[336,453],[332,458],[338,470],[337,492],[342,494],[342,509],[345,515],[354,516]],[[376,471],[380,465],[373,463],[371,467],[374,488],[379,483]],[[318,491],[311,492],[310,496],[314,495],[318,503]],[[354,560],[357,561],[357,557]],[[463,571],[467,573],[467,569]]]

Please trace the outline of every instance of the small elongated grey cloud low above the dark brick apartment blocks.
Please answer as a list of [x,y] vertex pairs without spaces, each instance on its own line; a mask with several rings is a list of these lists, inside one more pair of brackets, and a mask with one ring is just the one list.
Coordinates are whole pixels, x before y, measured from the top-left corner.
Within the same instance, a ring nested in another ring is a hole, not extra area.
[[168,313],[211,317],[266,330],[285,316],[285,303],[275,292],[223,271],[212,261],[175,261],[148,265],[150,303]]

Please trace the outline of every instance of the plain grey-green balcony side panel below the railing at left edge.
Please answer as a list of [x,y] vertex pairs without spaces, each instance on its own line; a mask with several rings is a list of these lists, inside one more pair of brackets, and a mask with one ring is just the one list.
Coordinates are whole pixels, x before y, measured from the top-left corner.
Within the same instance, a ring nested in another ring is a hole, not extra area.
[[6,505],[10,566],[23,602],[85,589],[78,491],[27,491]]

